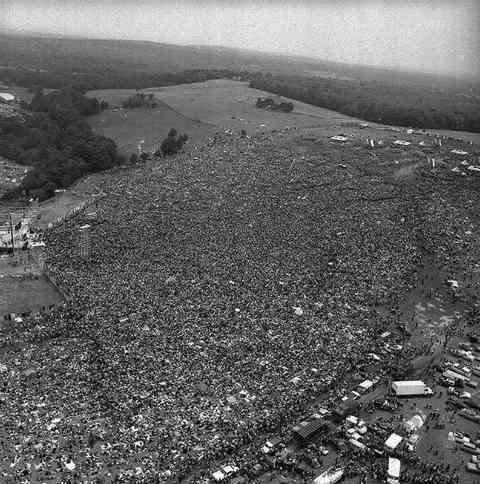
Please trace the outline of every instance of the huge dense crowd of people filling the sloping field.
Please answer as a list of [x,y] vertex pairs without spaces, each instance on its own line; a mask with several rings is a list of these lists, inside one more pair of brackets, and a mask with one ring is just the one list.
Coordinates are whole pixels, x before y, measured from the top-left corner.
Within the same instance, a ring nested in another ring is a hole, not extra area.
[[72,300],[0,338],[2,479],[248,476],[266,436],[333,403],[400,323],[419,241],[459,223],[379,150],[218,135],[112,176],[88,258],[81,216],[46,237]]

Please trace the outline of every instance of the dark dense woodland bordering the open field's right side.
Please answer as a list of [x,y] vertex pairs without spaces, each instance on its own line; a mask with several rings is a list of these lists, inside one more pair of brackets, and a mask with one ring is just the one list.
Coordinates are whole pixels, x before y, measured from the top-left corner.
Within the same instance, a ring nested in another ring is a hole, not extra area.
[[250,87],[372,122],[480,132],[480,97],[453,88],[271,74]]

